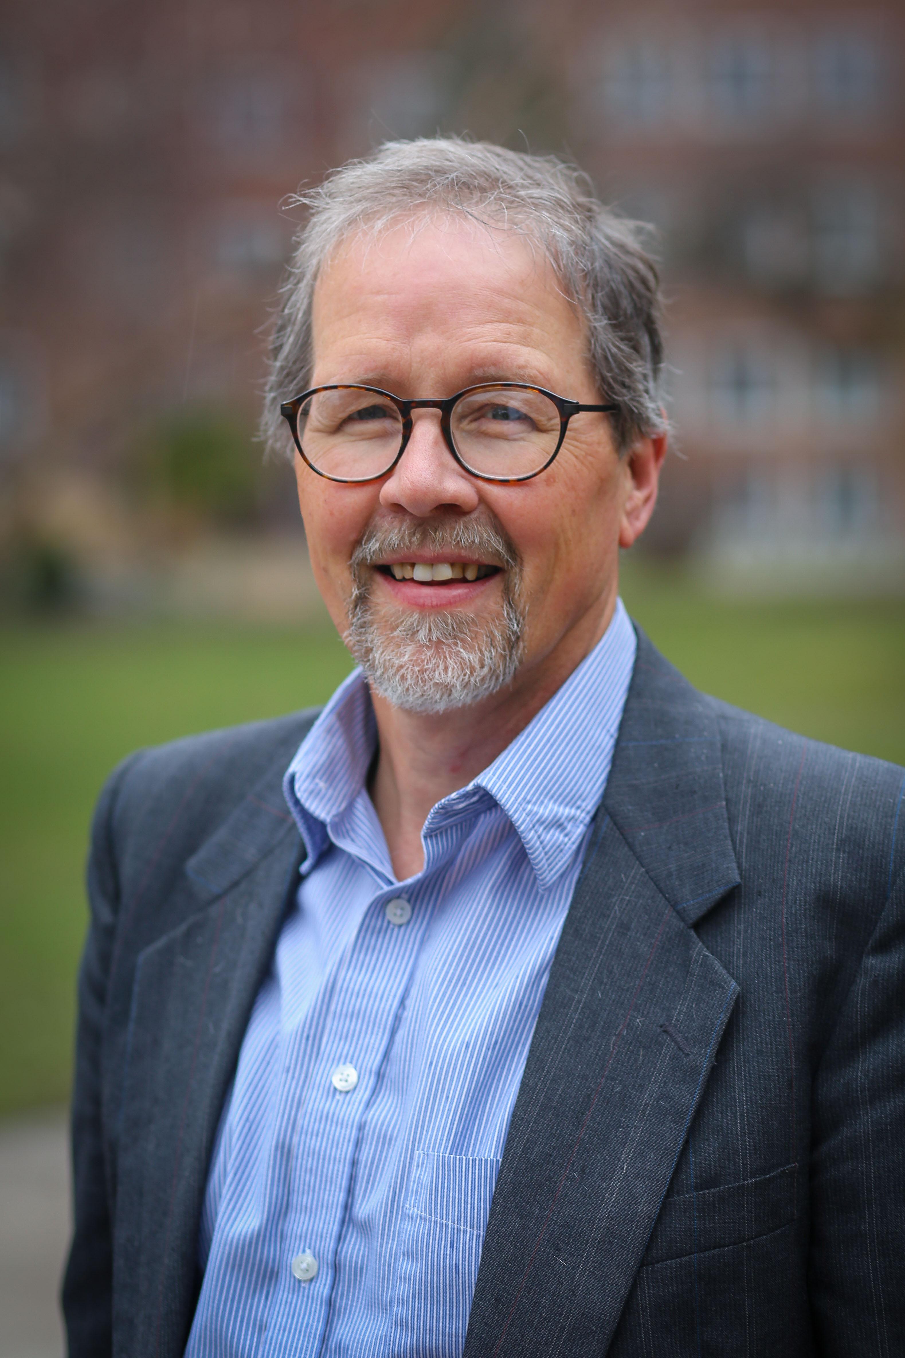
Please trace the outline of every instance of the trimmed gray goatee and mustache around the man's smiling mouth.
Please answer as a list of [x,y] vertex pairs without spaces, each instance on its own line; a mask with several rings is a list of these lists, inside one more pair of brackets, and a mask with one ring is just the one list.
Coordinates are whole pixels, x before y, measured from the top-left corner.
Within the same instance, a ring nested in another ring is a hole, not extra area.
[[[457,549],[503,566],[499,615],[479,619],[460,610],[422,614],[374,608],[373,565],[403,551],[415,557],[425,546]],[[467,708],[514,678],[524,655],[521,566],[499,528],[474,519],[374,527],[353,553],[351,577],[345,641],[373,691],[395,708],[431,713]]]

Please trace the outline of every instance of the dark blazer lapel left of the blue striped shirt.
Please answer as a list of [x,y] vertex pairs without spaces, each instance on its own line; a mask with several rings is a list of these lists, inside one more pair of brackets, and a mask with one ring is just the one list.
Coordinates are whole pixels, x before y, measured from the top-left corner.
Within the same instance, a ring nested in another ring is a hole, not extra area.
[[114,1252],[115,1351],[129,1358],[175,1358],[187,1340],[209,1158],[301,860],[274,782],[189,860],[194,913],[138,957]]

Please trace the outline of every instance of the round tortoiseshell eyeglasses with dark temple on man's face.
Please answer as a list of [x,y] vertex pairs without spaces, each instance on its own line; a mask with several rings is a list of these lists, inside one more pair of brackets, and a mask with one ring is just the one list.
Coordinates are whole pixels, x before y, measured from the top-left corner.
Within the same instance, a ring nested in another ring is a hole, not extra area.
[[346,485],[377,481],[392,471],[411,437],[412,410],[440,410],[440,428],[453,458],[480,481],[513,483],[545,471],[563,445],[573,416],[613,413],[522,382],[465,387],[446,401],[402,401],[380,387],[312,387],[280,413],[312,471]]

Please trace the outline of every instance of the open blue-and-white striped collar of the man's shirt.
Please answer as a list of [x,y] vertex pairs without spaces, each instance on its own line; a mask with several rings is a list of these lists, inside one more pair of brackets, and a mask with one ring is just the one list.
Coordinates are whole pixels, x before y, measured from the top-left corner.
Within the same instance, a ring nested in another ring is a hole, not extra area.
[[[474,813],[491,797],[522,841],[537,885],[550,887],[575,854],[600,804],[635,665],[638,640],[621,599],[609,627],[522,732],[460,792],[440,801],[425,834]],[[339,686],[299,747],[284,793],[309,870],[330,823],[361,796],[377,724],[361,669]]]

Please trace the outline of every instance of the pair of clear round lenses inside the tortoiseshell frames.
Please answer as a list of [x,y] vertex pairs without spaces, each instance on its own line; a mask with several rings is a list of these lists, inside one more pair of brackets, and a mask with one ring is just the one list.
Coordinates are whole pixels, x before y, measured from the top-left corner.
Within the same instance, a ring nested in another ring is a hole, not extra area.
[[[453,406],[450,432],[463,463],[499,479],[540,471],[559,443],[559,410],[540,391],[487,386]],[[403,437],[399,410],[376,391],[341,387],[313,392],[299,411],[299,441],[327,477],[368,481],[387,471]]]

